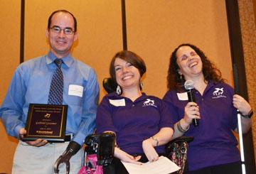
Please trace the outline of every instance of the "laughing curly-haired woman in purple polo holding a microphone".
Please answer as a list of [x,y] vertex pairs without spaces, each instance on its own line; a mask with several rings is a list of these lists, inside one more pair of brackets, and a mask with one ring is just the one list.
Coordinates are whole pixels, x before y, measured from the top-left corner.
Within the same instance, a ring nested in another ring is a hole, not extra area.
[[[241,173],[233,131],[238,131],[237,109],[242,114],[242,132],[250,129],[250,104],[234,93],[220,70],[195,45],[181,44],[174,50],[167,80],[169,91],[164,101],[176,123],[174,138],[194,137],[189,144],[188,173]],[[187,80],[193,82],[196,102],[188,102]],[[191,126],[193,119],[200,124]]]

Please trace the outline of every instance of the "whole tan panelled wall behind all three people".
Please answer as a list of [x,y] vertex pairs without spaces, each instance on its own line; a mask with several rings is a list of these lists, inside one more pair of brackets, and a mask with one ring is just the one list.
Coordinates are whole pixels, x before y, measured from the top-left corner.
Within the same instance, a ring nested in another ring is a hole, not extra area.
[[[0,42],[2,102],[19,62],[20,3],[0,2],[0,27],[6,32],[1,37],[4,41]],[[163,97],[171,51],[187,42],[202,48],[223,72],[223,77],[233,84],[224,0],[129,0],[126,8],[128,49],[146,62],[146,93]],[[47,53],[48,16],[56,9],[67,9],[78,19],[79,36],[73,56],[95,68],[101,86],[102,79],[109,76],[112,56],[122,50],[121,1],[29,0],[25,9],[25,60]],[[101,87],[100,99],[104,94]],[[0,154],[6,157],[0,158],[0,173],[11,173],[16,143],[6,135],[1,124],[0,134]]]

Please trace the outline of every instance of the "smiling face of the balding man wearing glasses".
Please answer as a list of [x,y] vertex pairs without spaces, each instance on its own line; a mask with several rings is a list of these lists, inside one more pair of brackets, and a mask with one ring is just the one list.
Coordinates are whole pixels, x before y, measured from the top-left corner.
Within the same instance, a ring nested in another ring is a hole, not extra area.
[[[73,16],[70,15],[70,13],[55,13],[53,15],[53,18],[51,19],[50,28],[53,28],[53,26],[60,29],[72,28],[72,30],[75,31],[74,19]],[[63,30],[60,31],[60,33],[56,33],[53,31],[53,29],[48,28],[46,30],[46,37],[49,40],[50,51],[57,58],[63,58],[70,53],[74,41],[78,38],[78,34],[75,32],[67,35],[64,33]]]

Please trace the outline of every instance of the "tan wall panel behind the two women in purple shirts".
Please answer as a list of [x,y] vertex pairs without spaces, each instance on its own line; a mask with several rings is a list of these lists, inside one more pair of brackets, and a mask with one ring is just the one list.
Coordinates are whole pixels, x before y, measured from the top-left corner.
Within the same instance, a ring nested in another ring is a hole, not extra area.
[[144,91],[163,97],[171,52],[181,43],[202,48],[233,84],[225,1],[129,0],[128,50],[144,58]]

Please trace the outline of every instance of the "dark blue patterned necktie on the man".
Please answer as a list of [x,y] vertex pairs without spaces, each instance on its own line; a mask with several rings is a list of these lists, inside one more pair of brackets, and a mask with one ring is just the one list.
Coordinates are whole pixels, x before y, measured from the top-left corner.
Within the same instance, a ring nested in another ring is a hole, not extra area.
[[61,71],[61,64],[63,60],[55,59],[55,65],[57,69],[53,74],[52,81],[50,83],[50,92],[48,96],[48,104],[62,104],[63,103],[63,72]]

